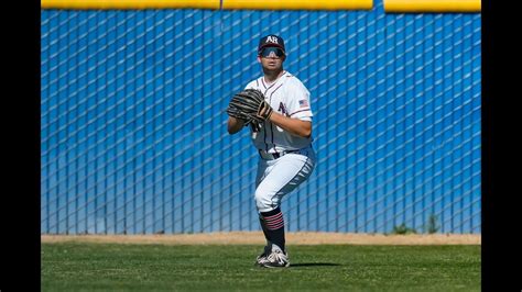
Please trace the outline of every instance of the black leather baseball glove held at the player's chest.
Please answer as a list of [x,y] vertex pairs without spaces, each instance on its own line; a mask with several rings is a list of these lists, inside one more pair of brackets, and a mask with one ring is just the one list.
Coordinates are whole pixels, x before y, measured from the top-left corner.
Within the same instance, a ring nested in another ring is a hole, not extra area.
[[232,97],[227,108],[230,116],[248,123],[262,123],[272,115],[272,108],[264,100],[264,94],[257,89],[246,89]]

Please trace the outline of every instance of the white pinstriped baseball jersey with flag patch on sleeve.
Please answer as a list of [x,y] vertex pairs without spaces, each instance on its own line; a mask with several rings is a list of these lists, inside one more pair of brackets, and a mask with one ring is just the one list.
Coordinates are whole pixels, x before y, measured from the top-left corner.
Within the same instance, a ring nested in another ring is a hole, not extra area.
[[[264,81],[264,76],[261,76],[244,89],[258,89],[263,92],[265,100],[280,114],[312,122],[309,91],[300,79],[287,71],[270,86]],[[302,149],[308,147],[313,139],[292,135],[270,121],[261,125],[260,132],[251,134],[255,148],[270,154]]]

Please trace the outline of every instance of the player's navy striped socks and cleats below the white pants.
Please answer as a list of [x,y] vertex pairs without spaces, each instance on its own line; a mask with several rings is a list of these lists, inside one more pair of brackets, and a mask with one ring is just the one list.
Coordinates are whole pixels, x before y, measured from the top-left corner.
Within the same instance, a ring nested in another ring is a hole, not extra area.
[[[267,247],[263,254],[258,257],[257,263],[267,268],[289,267],[290,261],[284,247],[284,220],[281,209],[260,212],[259,220],[267,238]],[[272,246],[271,249],[270,245]]]

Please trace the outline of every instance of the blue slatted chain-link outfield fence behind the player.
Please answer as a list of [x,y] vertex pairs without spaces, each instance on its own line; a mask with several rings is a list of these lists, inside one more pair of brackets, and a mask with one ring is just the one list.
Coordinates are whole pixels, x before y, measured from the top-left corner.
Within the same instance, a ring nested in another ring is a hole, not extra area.
[[480,233],[480,14],[41,16],[42,234],[259,231],[258,155],[225,109],[269,33],[315,114],[287,231]]

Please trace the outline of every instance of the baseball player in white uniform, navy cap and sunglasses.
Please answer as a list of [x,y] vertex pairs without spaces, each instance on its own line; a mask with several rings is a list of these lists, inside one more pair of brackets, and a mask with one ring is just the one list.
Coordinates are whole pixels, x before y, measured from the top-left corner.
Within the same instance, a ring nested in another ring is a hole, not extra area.
[[[246,90],[261,91],[271,106],[270,115],[262,123],[255,126],[250,123],[252,142],[260,155],[254,199],[267,238],[267,246],[255,263],[267,268],[290,266],[281,199],[309,177],[316,160],[312,149],[309,91],[283,69],[285,59],[283,38],[262,37],[258,61],[263,76],[246,87]],[[228,133],[236,134],[246,124],[249,123],[229,114]]]

